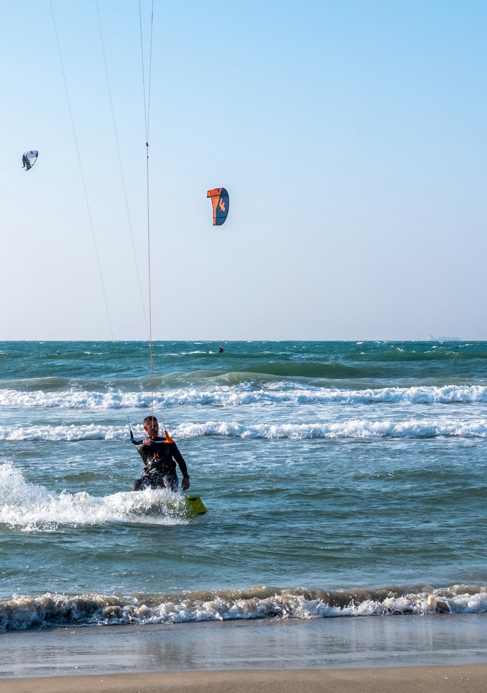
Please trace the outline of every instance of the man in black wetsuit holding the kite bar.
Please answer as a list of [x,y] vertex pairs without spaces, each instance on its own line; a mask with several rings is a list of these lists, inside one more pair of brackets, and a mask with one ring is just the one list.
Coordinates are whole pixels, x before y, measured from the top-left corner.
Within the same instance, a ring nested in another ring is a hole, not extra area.
[[174,441],[167,441],[159,436],[159,423],[155,416],[146,416],[143,428],[147,437],[141,441],[134,440],[132,431],[130,437],[137,452],[145,464],[142,476],[134,483],[134,491],[143,489],[168,489],[177,491],[179,479],[176,473],[176,462],[183,475],[181,486],[183,491],[189,489],[189,475],[184,457],[179,452]]

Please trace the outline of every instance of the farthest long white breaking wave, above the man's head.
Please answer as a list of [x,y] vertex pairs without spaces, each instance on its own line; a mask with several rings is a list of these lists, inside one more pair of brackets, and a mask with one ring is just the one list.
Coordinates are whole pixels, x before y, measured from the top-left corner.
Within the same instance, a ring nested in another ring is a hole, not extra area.
[[[339,389],[335,387],[302,387],[296,383],[269,383],[256,387],[252,383],[220,386],[214,389],[175,389],[154,392],[158,407],[216,406],[238,407],[272,404],[468,404],[487,402],[486,385],[443,385],[437,387],[379,387],[368,389]],[[150,392],[89,392],[87,390],[37,389],[32,392],[0,389],[0,405],[4,407],[46,407],[80,410],[111,410],[126,407],[150,407]]]

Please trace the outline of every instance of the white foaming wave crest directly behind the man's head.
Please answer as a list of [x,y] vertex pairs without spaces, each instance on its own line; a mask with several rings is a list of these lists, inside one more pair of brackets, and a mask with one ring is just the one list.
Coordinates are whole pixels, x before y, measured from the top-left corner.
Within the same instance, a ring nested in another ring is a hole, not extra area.
[[[133,427],[135,437],[141,437],[140,425]],[[170,428],[174,439],[198,438],[203,436],[261,438],[261,439],[342,439],[342,438],[485,438],[487,419],[461,421],[443,419],[406,419],[393,421],[368,421],[366,419],[345,419],[337,422],[316,423],[256,423],[238,421],[206,421],[204,423],[184,422]],[[0,426],[0,441],[128,441],[127,424],[124,426],[105,426],[89,423],[71,426]]]

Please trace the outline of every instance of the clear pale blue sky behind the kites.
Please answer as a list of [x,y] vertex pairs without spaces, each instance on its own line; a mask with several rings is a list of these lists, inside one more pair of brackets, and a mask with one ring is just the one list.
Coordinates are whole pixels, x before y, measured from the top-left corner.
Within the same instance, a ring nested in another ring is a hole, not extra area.
[[484,0],[154,0],[149,107],[152,1],[51,1],[2,1],[0,341],[487,339]]

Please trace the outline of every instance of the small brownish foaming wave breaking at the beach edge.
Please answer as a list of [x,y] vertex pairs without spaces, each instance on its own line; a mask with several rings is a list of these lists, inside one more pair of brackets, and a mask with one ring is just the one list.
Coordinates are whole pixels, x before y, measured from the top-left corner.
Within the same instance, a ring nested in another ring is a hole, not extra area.
[[0,599],[0,631],[42,626],[113,626],[238,619],[316,619],[436,613],[486,613],[484,585],[437,589],[249,590],[173,595],[12,595]]

